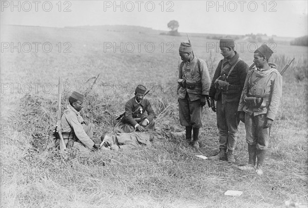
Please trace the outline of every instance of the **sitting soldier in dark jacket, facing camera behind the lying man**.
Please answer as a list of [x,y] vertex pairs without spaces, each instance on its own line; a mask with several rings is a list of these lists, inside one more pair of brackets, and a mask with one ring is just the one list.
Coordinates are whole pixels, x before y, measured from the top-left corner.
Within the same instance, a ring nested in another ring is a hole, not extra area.
[[[155,112],[150,101],[144,98],[146,88],[138,85],[134,97],[125,104],[125,113],[120,122],[114,129],[118,133],[130,133],[133,131],[144,132],[146,130],[155,130]],[[147,112],[147,116],[145,114]]]

